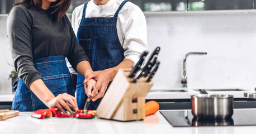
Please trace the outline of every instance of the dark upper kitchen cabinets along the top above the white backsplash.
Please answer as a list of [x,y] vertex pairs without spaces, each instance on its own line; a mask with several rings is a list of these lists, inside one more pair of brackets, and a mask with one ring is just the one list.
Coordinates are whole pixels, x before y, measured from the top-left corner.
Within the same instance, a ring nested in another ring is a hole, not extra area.
[[[87,3],[89,0],[73,0],[68,13],[75,7]],[[254,0],[130,0],[142,11],[198,11],[198,10],[229,10],[229,9],[255,9]],[[9,13],[12,4],[18,0],[2,0],[0,13]]]

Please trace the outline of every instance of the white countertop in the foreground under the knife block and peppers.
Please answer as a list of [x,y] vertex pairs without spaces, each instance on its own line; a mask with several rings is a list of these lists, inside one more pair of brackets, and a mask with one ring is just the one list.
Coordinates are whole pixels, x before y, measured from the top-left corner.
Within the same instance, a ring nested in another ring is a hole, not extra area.
[[222,127],[172,127],[157,112],[144,121],[118,122],[106,119],[30,119],[32,112],[20,112],[20,116],[0,121],[0,133],[193,133],[226,134],[255,133],[255,126]]

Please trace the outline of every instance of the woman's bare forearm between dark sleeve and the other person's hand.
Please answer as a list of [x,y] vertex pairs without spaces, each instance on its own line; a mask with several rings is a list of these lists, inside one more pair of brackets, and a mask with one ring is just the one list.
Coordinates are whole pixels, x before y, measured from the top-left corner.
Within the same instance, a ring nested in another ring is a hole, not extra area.
[[91,65],[88,61],[83,60],[77,65],[77,71],[80,75],[86,77],[88,74],[92,73]]

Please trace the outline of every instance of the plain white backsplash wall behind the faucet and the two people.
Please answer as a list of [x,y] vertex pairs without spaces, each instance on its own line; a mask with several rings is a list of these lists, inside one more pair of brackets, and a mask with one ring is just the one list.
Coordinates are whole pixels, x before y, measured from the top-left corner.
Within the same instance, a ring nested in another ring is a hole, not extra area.
[[[187,52],[207,55],[187,58],[188,88],[253,90],[256,87],[256,11],[145,12],[149,51],[160,46],[159,70],[152,89],[182,88],[183,58]],[[11,91],[8,76],[13,69],[6,35],[6,19],[0,17],[0,90]]]

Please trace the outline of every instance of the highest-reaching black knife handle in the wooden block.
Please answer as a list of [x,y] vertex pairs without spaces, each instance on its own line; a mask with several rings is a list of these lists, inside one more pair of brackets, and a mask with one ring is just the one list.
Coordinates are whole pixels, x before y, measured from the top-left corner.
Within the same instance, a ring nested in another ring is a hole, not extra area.
[[150,55],[150,57],[149,57],[149,59],[148,59],[148,61],[146,63],[146,66],[144,66],[144,68],[148,68],[145,71],[144,77],[149,75],[149,73],[150,73],[149,71],[151,70],[153,65],[157,62],[157,56],[159,54],[159,51],[160,51],[160,47],[158,46],[157,48],[155,48],[155,50]]

